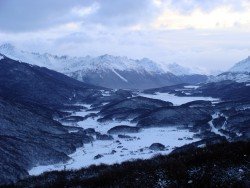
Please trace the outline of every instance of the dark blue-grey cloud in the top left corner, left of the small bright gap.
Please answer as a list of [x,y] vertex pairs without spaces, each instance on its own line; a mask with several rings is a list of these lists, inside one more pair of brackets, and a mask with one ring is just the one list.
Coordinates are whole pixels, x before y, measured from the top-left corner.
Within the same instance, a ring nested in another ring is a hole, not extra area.
[[91,6],[85,0],[1,0],[0,31],[24,32],[54,27],[72,22],[71,10],[78,6]]

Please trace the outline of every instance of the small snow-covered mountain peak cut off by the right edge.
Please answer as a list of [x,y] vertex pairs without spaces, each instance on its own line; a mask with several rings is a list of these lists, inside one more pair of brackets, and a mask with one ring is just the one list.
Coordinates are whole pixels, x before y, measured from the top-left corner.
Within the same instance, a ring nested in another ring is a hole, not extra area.
[[233,80],[236,82],[250,82],[250,56],[236,63],[227,72],[221,73],[210,81]]

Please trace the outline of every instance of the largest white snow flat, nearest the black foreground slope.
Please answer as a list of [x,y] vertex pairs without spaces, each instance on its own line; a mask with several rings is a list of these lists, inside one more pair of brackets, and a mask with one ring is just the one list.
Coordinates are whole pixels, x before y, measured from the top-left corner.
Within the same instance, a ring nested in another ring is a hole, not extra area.
[[[92,164],[114,164],[133,159],[148,159],[157,154],[168,154],[175,147],[198,141],[197,138],[190,140],[193,134],[188,130],[177,128],[150,128],[143,129],[140,133],[126,134],[133,137],[132,139],[120,139],[114,136],[114,140],[94,141],[93,144],[85,144],[78,148],[70,155],[72,159],[66,164],[38,166],[32,168],[29,174],[39,175],[51,170],[79,169]],[[152,143],[162,143],[166,146],[166,150],[152,151],[148,148]],[[103,157],[94,159],[98,154]]]

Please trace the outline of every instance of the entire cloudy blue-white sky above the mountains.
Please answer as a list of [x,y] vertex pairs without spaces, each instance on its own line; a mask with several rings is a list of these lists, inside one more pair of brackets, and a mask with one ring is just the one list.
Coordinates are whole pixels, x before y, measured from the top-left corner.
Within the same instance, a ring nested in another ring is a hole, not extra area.
[[0,0],[0,43],[208,71],[250,55],[250,0]]

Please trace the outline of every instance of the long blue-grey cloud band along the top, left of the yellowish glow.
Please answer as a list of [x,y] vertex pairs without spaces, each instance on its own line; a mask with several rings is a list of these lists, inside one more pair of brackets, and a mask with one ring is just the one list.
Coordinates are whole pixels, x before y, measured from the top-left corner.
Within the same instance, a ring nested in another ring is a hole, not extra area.
[[[73,8],[98,4],[97,12],[83,18]],[[150,0],[1,0],[0,31],[23,32],[82,21],[104,25],[146,22],[156,12]]]

